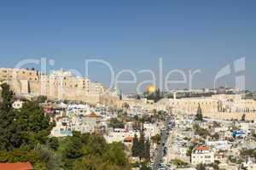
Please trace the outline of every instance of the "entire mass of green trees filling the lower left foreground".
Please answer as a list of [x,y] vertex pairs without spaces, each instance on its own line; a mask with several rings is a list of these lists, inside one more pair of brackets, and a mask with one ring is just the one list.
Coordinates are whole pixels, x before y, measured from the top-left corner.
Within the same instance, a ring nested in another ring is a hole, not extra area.
[[121,143],[107,144],[102,136],[73,132],[72,137],[50,138],[55,123],[38,105],[26,101],[12,108],[13,93],[2,84],[0,103],[0,162],[31,162],[35,170],[131,169]]

